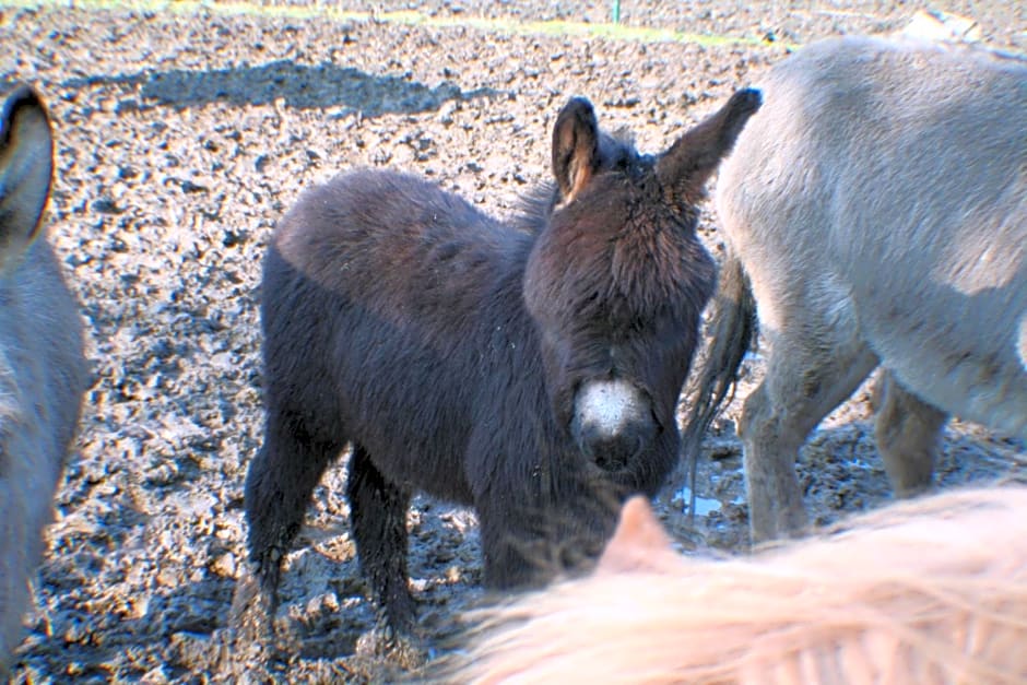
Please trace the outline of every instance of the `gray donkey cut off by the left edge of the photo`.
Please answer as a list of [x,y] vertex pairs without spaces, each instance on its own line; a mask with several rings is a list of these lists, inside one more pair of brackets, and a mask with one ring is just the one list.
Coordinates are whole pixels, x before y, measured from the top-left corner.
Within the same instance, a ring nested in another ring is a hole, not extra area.
[[21,641],[88,377],[78,305],[37,236],[52,166],[46,110],[17,87],[0,118],[0,675]]

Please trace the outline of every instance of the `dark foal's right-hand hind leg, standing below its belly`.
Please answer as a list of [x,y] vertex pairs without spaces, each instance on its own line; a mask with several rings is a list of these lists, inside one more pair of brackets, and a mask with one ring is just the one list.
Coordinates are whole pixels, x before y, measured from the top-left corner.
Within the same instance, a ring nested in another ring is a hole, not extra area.
[[415,618],[406,572],[410,493],[386,479],[367,450],[355,444],[346,497],[361,570],[385,613],[387,627],[409,635]]

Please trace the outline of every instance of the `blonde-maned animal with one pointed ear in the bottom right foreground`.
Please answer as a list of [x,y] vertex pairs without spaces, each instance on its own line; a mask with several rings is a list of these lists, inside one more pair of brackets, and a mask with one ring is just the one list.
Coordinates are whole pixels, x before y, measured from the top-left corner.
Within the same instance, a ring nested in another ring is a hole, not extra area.
[[590,578],[479,618],[474,683],[1023,683],[1027,488],[895,505],[732,560],[674,553],[645,500]]

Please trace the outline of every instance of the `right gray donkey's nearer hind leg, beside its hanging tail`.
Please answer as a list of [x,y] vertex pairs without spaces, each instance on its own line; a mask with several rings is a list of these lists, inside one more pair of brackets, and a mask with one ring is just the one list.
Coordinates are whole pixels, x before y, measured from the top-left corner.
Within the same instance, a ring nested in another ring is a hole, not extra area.
[[770,342],[766,377],[746,398],[740,424],[754,543],[803,532],[799,448],[877,365],[858,342],[833,344],[801,328]]

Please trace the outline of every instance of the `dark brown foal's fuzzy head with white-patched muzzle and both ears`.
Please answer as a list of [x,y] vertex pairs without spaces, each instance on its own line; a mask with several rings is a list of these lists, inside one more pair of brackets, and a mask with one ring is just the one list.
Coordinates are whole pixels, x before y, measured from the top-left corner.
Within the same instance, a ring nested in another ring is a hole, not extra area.
[[571,99],[553,130],[552,213],[529,258],[524,300],[540,331],[550,400],[606,471],[645,477],[688,373],[712,259],[695,235],[704,186],[731,150],[757,91],[735,93],[659,155],[599,130]]

